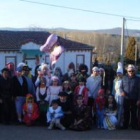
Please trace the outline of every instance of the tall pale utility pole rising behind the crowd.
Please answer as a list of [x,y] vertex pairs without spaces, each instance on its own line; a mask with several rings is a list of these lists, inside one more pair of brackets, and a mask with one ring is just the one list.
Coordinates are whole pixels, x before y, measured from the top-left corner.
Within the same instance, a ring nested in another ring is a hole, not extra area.
[[124,63],[124,26],[125,26],[125,18],[123,18],[123,26],[122,26],[122,34],[121,34],[121,63]]

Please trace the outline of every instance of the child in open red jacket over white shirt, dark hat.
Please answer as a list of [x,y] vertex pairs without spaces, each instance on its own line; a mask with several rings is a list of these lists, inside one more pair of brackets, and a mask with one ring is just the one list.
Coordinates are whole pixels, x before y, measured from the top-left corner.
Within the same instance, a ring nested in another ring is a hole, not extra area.
[[79,85],[75,88],[74,91],[74,103],[76,104],[76,98],[78,95],[82,95],[83,97],[83,103],[87,105],[88,103],[88,89],[85,86],[86,80],[85,78],[79,79]]

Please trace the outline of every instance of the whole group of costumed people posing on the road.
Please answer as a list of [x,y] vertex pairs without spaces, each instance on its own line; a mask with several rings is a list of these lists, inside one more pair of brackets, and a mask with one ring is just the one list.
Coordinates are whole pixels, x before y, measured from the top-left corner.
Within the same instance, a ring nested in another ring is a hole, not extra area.
[[[31,68],[20,63],[13,72],[9,67],[0,76],[0,122],[47,125],[75,131],[98,129],[140,129],[140,78],[135,67],[128,65],[126,74],[118,63],[116,77],[94,66],[91,75],[81,64],[73,64],[62,74],[53,73],[47,64]],[[113,79],[113,80],[112,80]],[[111,86],[110,86],[111,85]]]

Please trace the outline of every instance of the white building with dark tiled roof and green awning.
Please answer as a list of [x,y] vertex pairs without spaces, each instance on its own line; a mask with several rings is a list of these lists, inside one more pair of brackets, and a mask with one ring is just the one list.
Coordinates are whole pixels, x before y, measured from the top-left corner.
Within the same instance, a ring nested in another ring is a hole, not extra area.
[[[49,63],[49,54],[39,50],[49,35],[48,32],[36,31],[0,31],[0,70],[8,62],[13,62],[16,67],[24,61],[34,73],[38,60],[39,63]],[[80,64],[86,64],[90,73],[93,47],[61,37],[59,43],[65,48],[65,52],[56,62],[56,67],[60,67],[63,74],[67,72],[71,62],[75,64],[76,69]]]

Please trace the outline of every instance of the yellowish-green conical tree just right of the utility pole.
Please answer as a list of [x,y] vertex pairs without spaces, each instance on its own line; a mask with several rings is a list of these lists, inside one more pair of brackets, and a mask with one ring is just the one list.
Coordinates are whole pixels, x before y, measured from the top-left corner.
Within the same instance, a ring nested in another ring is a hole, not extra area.
[[125,63],[126,64],[134,64],[134,62],[135,62],[135,45],[136,45],[135,38],[129,37],[128,45],[126,47],[126,52],[125,52]]

